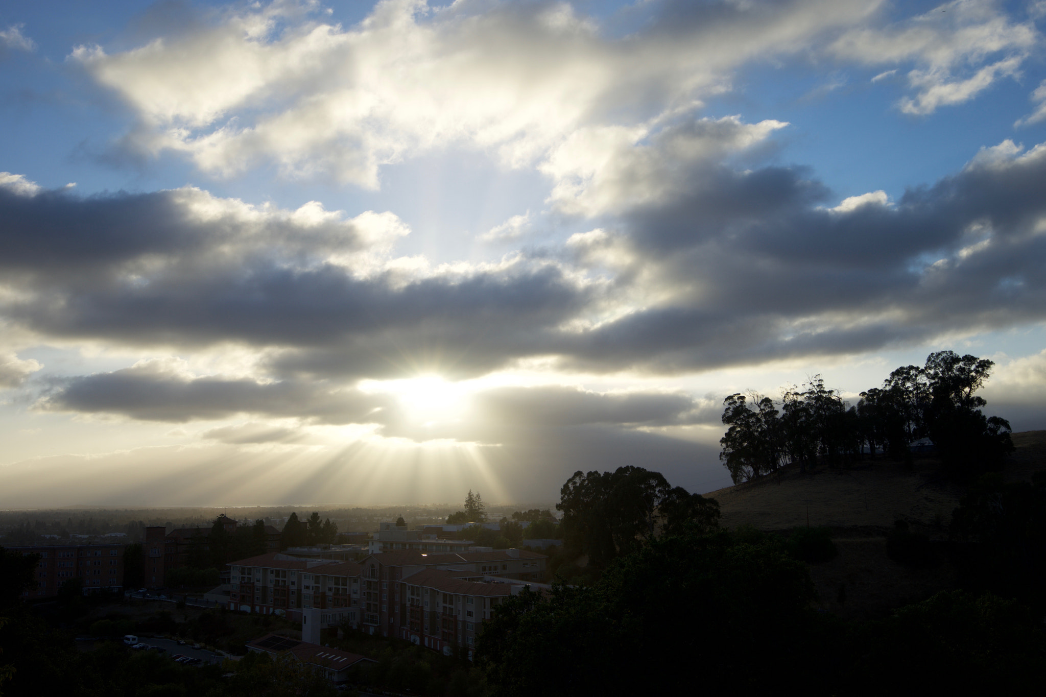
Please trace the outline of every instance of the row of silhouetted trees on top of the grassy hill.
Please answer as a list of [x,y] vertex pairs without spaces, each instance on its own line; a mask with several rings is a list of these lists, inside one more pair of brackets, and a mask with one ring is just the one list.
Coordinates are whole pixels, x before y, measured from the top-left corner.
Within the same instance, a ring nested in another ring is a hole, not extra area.
[[723,401],[727,432],[720,460],[740,484],[789,464],[805,471],[877,454],[910,461],[909,444],[929,438],[954,473],[997,469],[1014,449],[1009,422],[985,416],[981,408],[987,402],[974,394],[994,365],[937,351],[922,367],[897,368],[881,388],[862,392],[855,405],[820,375],[787,388],[778,401],[754,392],[732,394]]

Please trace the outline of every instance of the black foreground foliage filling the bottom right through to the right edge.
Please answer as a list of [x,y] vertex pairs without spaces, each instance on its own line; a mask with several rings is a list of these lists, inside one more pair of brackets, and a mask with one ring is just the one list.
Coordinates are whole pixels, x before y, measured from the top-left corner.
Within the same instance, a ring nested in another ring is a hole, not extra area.
[[655,539],[591,586],[500,606],[479,665],[503,697],[1033,694],[1046,643],[1027,606],[942,591],[844,623],[811,609],[802,549],[751,529]]

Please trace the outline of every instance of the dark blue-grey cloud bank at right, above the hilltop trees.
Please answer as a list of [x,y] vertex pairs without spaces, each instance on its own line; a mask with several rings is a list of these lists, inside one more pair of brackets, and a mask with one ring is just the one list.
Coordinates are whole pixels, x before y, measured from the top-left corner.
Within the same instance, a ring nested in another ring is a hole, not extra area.
[[983,153],[891,206],[819,208],[808,177],[695,171],[685,193],[627,213],[632,269],[678,299],[575,333],[563,366],[682,372],[1046,319],[1043,148]]

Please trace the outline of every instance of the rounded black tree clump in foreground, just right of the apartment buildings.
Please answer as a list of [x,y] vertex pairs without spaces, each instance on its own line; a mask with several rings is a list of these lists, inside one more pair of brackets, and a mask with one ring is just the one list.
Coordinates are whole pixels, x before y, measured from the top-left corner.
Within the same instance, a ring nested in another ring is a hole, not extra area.
[[506,696],[735,692],[779,684],[782,672],[816,682],[803,656],[829,646],[813,598],[780,539],[684,532],[618,559],[592,586],[513,598],[477,655]]

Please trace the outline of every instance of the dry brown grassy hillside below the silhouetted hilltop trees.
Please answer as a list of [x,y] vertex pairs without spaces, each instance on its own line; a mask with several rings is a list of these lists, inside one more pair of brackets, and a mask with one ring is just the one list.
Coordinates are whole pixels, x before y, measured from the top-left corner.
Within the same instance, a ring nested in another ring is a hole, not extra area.
[[[1017,451],[1007,463],[1007,480],[1027,480],[1046,469],[1046,431],[1013,439]],[[954,570],[943,555],[932,568],[902,566],[886,556],[885,535],[894,520],[904,519],[931,539],[946,539],[963,491],[941,475],[936,460],[919,459],[907,468],[880,457],[838,470],[801,473],[788,467],[779,475],[707,495],[720,502],[723,526],[784,532],[805,527],[809,516],[810,526],[832,528],[839,556],[811,564],[820,606],[848,619],[871,619],[954,586]]]

